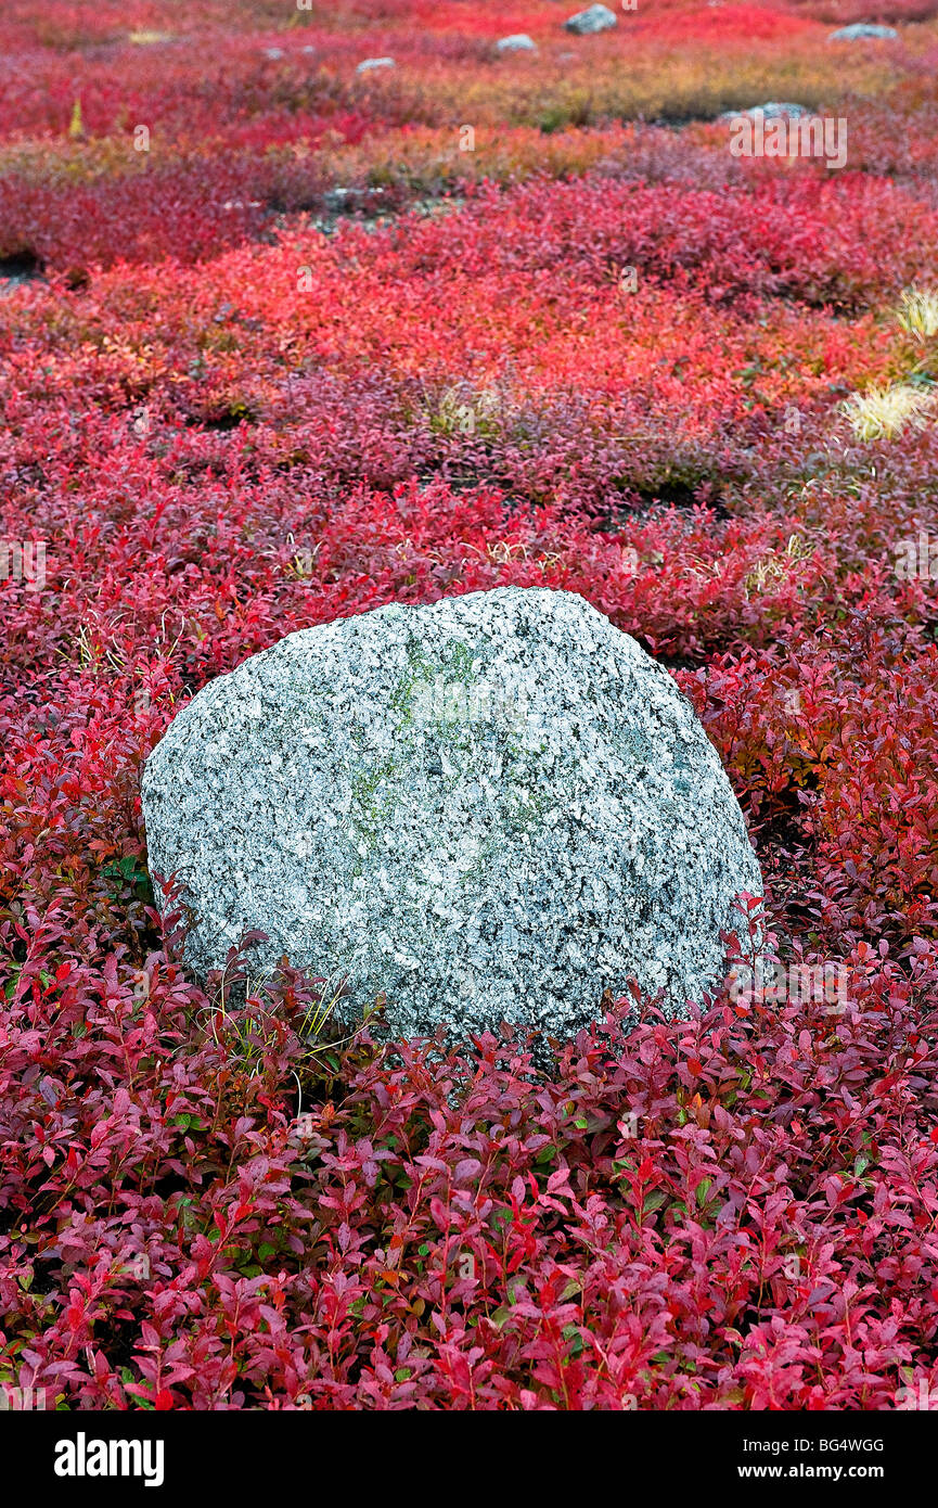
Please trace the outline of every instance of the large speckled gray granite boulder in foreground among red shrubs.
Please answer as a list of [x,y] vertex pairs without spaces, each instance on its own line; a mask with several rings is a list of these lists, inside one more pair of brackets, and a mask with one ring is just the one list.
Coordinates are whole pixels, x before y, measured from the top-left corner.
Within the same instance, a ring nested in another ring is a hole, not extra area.
[[[379,992],[400,1034],[559,1038],[630,977],[670,1013],[722,979],[762,878],[691,704],[582,597],[499,587],[291,633],[205,686],[143,774],[187,959],[261,927]],[[347,1012],[347,1013],[348,1013]]]

